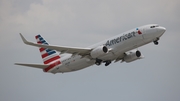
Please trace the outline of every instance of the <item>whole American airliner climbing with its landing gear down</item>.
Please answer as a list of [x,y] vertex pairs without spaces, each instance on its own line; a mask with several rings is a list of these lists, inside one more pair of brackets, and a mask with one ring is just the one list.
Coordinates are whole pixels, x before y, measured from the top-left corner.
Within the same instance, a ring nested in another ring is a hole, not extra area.
[[151,42],[158,45],[165,31],[166,28],[158,24],[144,25],[86,48],[49,45],[41,35],[35,36],[37,43],[33,43],[20,33],[25,44],[39,47],[44,64],[15,65],[39,68],[56,74],[81,70],[94,64],[99,66],[105,63],[108,66],[111,62],[129,63],[144,58],[137,48]]

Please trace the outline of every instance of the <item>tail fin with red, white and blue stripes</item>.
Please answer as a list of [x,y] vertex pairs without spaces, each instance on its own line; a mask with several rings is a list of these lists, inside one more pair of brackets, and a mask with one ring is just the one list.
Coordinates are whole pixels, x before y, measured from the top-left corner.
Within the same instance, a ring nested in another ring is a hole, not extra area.
[[[35,38],[38,44],[48,45],[48,43],[44,40],[44,38],[41,37],[41,35],[37,35],[35,36]],[[43,59],[44,64],[61,64],[60,56],[55,50],[40,47],[39,51],[41,53],[41,57]]]

